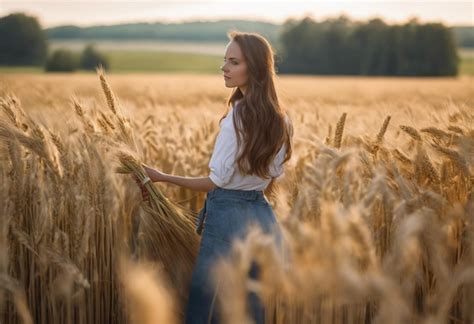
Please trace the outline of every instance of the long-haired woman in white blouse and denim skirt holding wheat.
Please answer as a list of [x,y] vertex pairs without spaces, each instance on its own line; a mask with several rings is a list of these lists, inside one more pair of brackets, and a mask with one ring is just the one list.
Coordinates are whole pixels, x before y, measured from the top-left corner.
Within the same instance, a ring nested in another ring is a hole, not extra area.
[[[225,86],[234,90],[228,111],[220,120],[209,176],[180,177],[146,167],[153,182],[207,192],[197,224],[202,239],[191,280],[186,323],[218,321],[216,289],[209,274],[217,258],[229,252],[232,240],[243,237],[250,224],[261,226],[265,233],[279,233],[263,190],[283,173],[283,164],[291,157],[293,131],[275,90],[270,44],[255,33],[231,32],[228,36],[221,70]],[[143,187],[142,193],[147,199]],[[255,265],[249,275],[258,277]],[[262,323],[264,312],[259,299],[249,294],[248,301],[250,315]]]

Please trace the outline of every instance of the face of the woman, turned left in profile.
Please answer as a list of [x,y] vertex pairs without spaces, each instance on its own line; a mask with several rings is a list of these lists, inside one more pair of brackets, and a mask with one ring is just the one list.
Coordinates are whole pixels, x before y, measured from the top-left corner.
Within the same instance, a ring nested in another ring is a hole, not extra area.
[[224,72],[227,88],[239,87],[242,92],[245,92],[248,80],[247,63],[239,44],[233,40],[226,46],[224,64],[221,66],[221,70]]

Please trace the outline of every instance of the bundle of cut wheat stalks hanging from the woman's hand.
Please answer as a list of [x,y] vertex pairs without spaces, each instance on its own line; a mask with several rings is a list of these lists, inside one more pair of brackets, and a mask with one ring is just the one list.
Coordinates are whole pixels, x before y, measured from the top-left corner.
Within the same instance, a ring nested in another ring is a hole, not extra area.
[[[134,174],[139,181],[147,178],[143,167],[129,154],[121,153],[119,173]],[[149,204],[144,203],[138,229],[138,256],[140,260],[162,263],[167,278],[179,295],[184,307],[188,286],[199,247],[199,236],[194,230],[194,215],[166,198],[148,181]]]

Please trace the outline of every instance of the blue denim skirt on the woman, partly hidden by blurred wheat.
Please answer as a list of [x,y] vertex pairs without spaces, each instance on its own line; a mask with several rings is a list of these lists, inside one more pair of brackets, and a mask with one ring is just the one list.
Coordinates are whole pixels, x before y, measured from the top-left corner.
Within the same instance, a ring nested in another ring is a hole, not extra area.
[[[191,279],[186,323],[222,323],[211,268],[218,258],[228,255],[234,239],[245,236],[250,224],[274,234],[276,244],[281,244],[275,214],[262,191],[216,188],[207,193],[196,224],[202,238]],[[254,263],[248,276],[256,279],[258,274]],[[264,323],[264,308],[253,292],[247,294],[247,310],[255,323]]]

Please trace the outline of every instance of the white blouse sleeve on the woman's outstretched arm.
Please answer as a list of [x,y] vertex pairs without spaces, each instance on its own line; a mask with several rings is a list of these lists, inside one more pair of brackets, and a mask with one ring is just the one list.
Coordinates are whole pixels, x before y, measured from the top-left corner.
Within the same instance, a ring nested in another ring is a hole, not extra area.
[[232,123],[222,124],[209,161],[209,178],[218,187],[230,182],[235,173],[237,137]]

